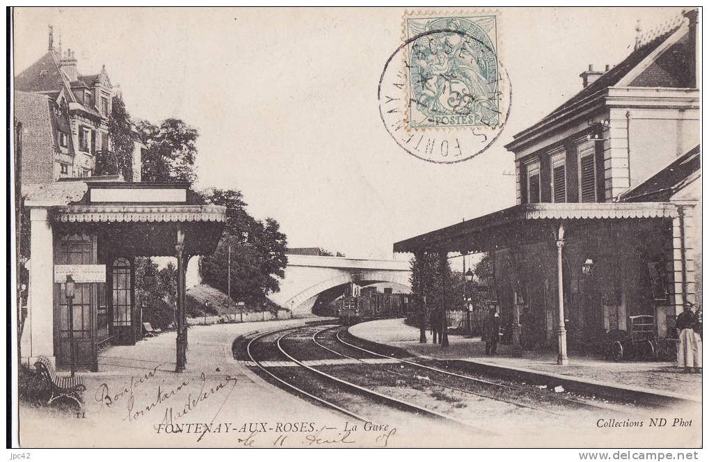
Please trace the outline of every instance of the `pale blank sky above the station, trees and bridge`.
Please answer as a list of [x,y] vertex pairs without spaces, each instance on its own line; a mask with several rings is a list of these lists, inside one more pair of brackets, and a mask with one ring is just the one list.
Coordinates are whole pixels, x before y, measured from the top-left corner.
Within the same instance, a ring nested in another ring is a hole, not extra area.
[[290,247],[393,257],[392,244],[515,204],[504,145],[617,64],[681,8],[500,9],[512,111],[491,149],[459,164],[401,150],[377,84],[402,42],[404,9],[16,9],[14,73],[41,57],[48,25],[79,73],[102,64],[133,118],[199,130],[198,187],[240,189]]

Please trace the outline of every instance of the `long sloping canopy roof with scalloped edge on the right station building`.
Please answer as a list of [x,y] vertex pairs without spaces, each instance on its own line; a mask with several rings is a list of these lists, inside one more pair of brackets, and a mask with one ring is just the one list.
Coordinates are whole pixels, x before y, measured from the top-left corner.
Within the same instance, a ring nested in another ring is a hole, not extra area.
[[[515,240],[552,239],[559,223],[591,225],[591,221],[674,218],[672,203],[533,203],[514,205],[473,220],[396,242],[394,252],[486,252]],[[547,234],[548,232],[548,234]]]

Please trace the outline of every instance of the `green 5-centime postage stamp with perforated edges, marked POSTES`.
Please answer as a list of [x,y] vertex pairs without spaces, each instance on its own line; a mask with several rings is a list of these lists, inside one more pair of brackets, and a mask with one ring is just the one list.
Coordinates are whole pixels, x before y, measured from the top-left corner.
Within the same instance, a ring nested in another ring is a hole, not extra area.
[[404,19],[411,128],[500,125],[497,16]]

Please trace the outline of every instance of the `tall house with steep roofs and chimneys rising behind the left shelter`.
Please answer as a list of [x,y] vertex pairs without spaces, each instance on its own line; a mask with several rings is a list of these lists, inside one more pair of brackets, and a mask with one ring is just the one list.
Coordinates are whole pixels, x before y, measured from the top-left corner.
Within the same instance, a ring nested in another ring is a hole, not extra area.
[[[98,74],[79,74],[75,53],[62,52],[50,28],[48,51],[15,77],[14,95],[15,118],[34,135],[24,144],[25,183],[106,173],[96,171],[96,159],[112,155],[108,118],[116,89],[105,66]],[[134,139],[133,162],[140,165],[145,145],[137,133]],[[140,169],[133,169],[132,180],[140,181]]]

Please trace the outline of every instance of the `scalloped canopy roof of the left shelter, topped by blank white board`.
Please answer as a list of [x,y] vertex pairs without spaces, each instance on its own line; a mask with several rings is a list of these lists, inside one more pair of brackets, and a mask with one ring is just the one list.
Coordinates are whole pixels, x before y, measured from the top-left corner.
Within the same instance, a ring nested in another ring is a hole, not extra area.
[[50,210],[55,230],[95,232],[107,252],[125,255],[174,256],[178,233],[186,254],[211,254],[226,221],[225,207],[200,203],[188,184],[60,181],[28,199]]

